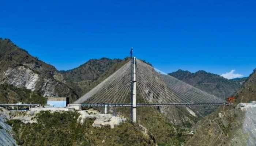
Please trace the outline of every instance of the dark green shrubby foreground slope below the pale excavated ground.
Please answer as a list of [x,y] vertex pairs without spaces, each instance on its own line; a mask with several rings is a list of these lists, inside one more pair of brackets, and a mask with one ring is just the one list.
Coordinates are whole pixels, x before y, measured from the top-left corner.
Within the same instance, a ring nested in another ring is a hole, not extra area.
[[9,120],[18,145],[22,146],[153,146],[155,143],[131,123],[93,127],[94,119],[78,123],[77,112],[40,112],[37,123]]

